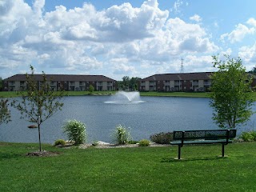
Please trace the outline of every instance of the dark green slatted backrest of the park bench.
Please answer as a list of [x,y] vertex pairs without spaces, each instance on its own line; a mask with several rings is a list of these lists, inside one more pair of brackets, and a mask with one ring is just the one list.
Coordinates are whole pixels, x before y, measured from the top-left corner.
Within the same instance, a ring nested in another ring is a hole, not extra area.
[[[174,131],[174,140],[230,139],[235,138],[237,130],[184,130]],[[182,138],[183,134],[183,138]]]

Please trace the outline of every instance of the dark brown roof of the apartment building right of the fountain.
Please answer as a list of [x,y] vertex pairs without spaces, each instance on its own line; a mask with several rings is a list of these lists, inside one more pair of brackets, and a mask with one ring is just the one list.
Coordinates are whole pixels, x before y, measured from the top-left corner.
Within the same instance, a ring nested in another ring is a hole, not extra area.
[[154,74],[147,78],[142,78],[142,81],[175,81],[175,80],[207,80],[212,72],[201,73],[180,73],[180,74]]

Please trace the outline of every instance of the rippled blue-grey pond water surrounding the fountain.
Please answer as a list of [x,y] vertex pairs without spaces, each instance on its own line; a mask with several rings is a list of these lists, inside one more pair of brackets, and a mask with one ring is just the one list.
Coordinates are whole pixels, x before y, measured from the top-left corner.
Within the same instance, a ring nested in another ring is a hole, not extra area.
[[[218,129],[213,122],[209,98],[141,97],[142,102],[112,103],[113,96],[72,96],[63,98],[64,106],[42,123],[42,142],[66,139],[62,125],[77,119],[86,124],[86,142],[112,142],[118,124],[130,127],[133,140],[149,139],[151,134],[173,130]],[[10,109],[12,122],[0,126],[2,142],[38,142],[38,130],[28,129],[30,122],[20,119],[18,110]],[[254,111],[256,107],[254,106]],[[253,129],[254,114],[239,130]]]

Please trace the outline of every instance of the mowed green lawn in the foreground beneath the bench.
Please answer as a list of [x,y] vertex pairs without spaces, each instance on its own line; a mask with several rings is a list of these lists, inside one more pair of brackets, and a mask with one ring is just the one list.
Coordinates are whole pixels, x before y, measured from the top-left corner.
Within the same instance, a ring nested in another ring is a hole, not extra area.
[[226,146],[66,149],[0,142],[0,191],[256,191],[256,142]]

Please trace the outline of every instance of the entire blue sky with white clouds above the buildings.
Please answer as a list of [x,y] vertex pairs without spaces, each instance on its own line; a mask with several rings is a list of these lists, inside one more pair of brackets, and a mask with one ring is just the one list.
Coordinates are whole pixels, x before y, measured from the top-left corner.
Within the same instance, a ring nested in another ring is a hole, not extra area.
[[215,71],[256,66],[255,0],[0,0],[0,77]]

